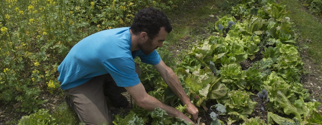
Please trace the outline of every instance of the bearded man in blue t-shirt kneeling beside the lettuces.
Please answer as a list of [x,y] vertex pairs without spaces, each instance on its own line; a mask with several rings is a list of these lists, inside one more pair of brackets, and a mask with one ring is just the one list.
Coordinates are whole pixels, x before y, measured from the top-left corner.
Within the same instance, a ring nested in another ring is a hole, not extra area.
[[138,77],[140,69],[134,62],[138,56],[142,62],[154,65],[171,90],[187,105],[186,112],[196,120],[198,109],[187,97],[173,70],[156,52],[171,30],[163,12],[146,8],[136,14],[131,27],[100,31],[71,48],[57,69],[58,80],[62,82],[61,88],[67,90],[65,101],[79,119],[90,125],[112,124],[104,91],[113,105],[126,106],[128,102],[120,94],[125,88],[138,106],[150,111],[160,107],[169,116],[193,123],[182,112],[147,94]]

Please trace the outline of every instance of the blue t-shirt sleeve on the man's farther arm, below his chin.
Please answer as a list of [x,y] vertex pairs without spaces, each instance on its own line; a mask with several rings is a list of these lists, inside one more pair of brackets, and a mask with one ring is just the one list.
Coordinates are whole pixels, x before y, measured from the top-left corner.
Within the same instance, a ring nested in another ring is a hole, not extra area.
[[145,55],[141,53],[138,55],[143,63],[151,64],[151,65],[156,65],[159,64],[161,61],[161,57],[156,50],[154,50],[152,53]]

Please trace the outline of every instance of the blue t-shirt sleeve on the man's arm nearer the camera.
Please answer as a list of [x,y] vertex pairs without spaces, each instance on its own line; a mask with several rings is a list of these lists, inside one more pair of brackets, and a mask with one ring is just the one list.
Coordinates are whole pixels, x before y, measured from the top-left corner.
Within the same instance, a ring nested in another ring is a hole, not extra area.
[[112,58],[103,61],[104,68],[120,87],[130,87],[140,83],[135,72],[134,60],[127,57]]

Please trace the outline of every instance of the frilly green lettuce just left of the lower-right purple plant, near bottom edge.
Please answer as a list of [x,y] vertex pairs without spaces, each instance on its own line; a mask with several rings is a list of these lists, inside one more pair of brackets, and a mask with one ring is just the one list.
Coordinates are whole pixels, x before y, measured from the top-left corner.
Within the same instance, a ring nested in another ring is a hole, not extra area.
[[245,120],[254,111],[257,102],[251,100],[251,92],[232,90],[228,92],[228,99],[220,100],[226,107],[227,114],[231,120]]

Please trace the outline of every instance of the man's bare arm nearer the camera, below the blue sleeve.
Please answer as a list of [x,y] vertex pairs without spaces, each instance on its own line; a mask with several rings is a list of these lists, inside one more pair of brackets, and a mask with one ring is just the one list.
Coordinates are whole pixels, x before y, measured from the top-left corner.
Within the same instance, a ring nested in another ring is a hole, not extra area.
[[179,110],[168,106],[157,100],[156,98],[148,95],[141,82],[135,86],[125,87],[125,89],[132,95],[137,105],[143,109],[153,111],[155,108],[159,107],[165,110],[171,117],[179,117],[181,119],[194,123]]

